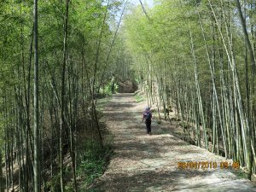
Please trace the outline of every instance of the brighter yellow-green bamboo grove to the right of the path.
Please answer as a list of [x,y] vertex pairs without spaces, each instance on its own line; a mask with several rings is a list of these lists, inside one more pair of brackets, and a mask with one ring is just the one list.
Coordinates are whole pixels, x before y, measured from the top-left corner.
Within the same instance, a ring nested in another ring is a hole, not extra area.
[[[183,134],[256,172],[255,1],[154,1],[122,28],[148,104],[175,108]],[[160,97],[160,103],[155,96]]]

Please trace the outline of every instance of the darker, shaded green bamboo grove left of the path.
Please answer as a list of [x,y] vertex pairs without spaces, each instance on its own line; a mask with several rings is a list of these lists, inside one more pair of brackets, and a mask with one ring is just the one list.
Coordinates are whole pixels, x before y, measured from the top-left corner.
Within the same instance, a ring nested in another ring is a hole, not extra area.
[[0,2],[0,191],[47,190],[48,181],[77,191],[79,120],[90,119],[103,146],[96,100],[119,64],[125,4]]

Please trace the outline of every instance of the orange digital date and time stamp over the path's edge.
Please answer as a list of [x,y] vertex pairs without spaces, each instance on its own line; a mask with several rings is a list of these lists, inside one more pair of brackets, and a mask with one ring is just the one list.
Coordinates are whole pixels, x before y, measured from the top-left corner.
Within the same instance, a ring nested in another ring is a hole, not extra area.
[[240,165],[238,161],[229,163],[228,161],[213,162],[213,161],[187,161],[177,162],[177,168],[179,169],[239,169]]

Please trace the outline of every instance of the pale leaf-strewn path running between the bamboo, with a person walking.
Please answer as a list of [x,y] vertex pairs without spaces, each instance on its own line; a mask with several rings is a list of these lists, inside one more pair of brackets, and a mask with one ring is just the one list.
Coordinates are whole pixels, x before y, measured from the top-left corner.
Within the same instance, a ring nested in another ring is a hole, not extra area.
[[[91,191],[256,191],[234,169],[219,167],[223,157],[169,134],[170,124],[158,125],[153,119],[153,135],[147,136],[142,123],[145,105],[132,94],[115,95],[109,102],[106,118],[114,135],[114,155]],[[184,170],[177,168],[178,161],[212,161],[218,167]]]

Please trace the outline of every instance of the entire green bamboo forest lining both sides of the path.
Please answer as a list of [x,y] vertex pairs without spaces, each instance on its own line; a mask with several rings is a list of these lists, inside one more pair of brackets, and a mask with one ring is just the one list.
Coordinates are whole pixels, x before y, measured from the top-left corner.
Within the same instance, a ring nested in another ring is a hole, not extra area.
[[97,99],[134,77],[195,144],[255,174],[255,1],[129,2],[0,1],[0,192],[78,191],[81,122],[104,148]]

